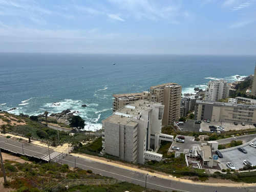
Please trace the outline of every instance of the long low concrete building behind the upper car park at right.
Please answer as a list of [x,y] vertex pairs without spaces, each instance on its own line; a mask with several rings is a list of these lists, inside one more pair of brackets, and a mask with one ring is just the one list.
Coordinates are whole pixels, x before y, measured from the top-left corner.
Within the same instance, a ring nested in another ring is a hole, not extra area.
[[256,105],[234,104],[214,101],[196,101],[195,119],[222,122],[255,123]]

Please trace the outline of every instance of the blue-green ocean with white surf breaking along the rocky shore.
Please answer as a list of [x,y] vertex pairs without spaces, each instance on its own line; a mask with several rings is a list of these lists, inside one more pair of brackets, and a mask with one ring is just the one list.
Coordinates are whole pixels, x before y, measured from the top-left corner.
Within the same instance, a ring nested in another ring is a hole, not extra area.
[[[182,93],[205,90],[210,80],[254,74],[254,55],[115,55],[0,53],[0,110],[39,115],[70,109],[101,129],[112,115],[112,95],[147,91],[166,82]],[[116,65],[113,65],[116,63]],[[240,76],[240,77],[238,77]],[[82,107],[86,104],[86,107]]]

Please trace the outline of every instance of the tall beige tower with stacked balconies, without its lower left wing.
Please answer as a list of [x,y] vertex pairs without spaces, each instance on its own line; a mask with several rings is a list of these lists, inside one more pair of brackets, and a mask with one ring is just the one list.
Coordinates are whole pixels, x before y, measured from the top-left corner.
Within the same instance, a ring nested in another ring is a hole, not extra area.
[[156,95],[156,102],[164,105],[162,125],[168,126],[180,118],[180,103],[182,87],[177,83],[164,83],[150,88]]

